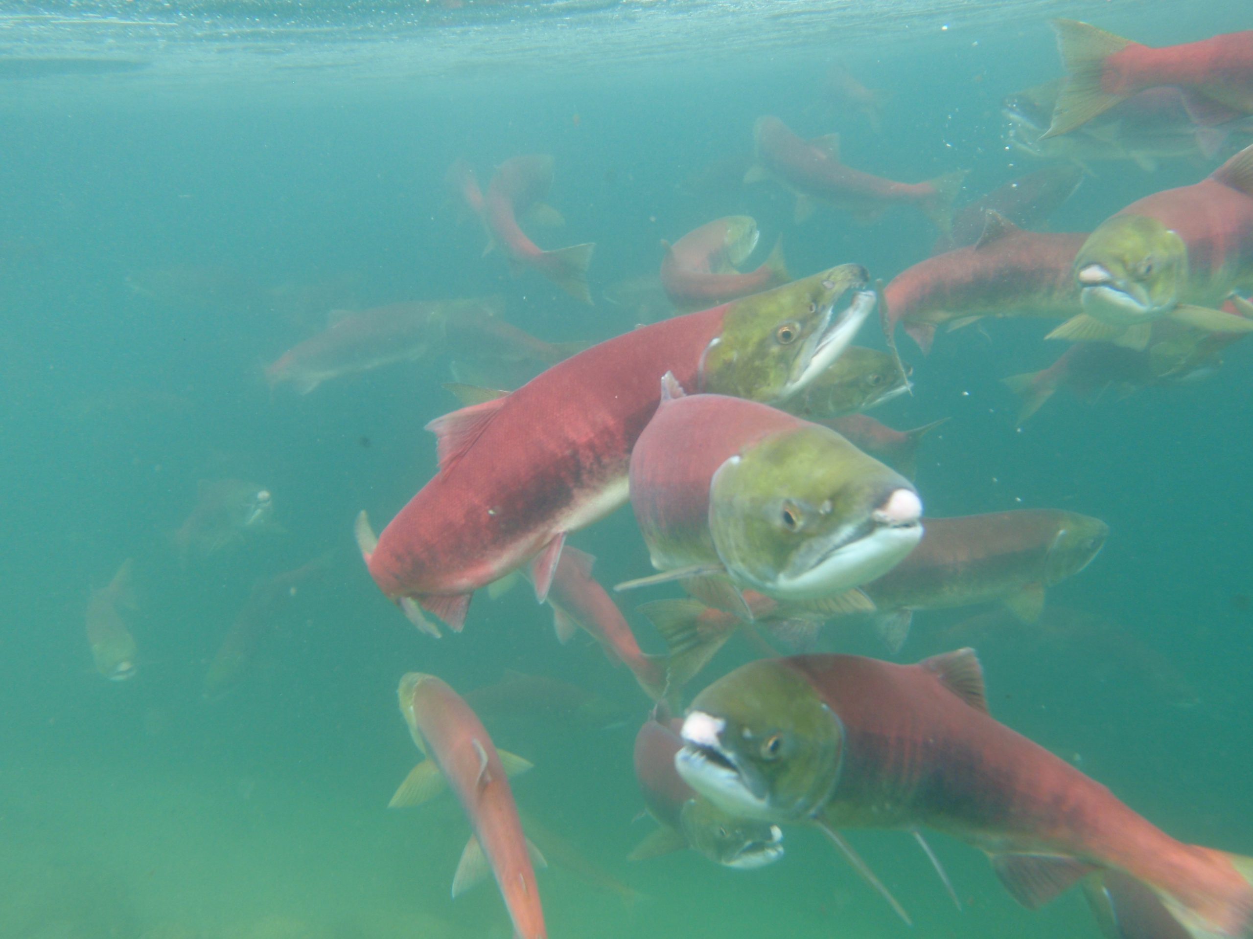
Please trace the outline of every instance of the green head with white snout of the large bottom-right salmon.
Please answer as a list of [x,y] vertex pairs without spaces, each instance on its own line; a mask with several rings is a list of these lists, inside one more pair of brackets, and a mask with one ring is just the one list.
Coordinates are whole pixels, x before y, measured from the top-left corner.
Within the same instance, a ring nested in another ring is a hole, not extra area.
[[840,777],[843,727],[784,660],[763,659],[707,687],[683,721],[674,766],[732,815],[801,821]]

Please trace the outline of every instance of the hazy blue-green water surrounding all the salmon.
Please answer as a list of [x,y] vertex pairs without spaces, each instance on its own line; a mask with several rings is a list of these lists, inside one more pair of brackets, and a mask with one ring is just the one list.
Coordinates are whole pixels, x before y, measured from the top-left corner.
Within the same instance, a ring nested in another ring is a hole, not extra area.
[[[895,179],[969,170],[970,198],[1040,165],[1006,145],[1000,106],[1058,75],[1053,16],[1158,45],[1249,26],[1243,0],[0,4],[0,938],[509,936],[492,888],[449,898],[455,801],[386,809],[417,760],[395,700],[413,670],[462,692],[514,670],[603,699],[485,716],[535,764],[512,784],[523,810],[586,859],[539,875],[554,936],[907,934],[817,833],[789,833],[758,871],[692,851],[628,864],[652,825],[633,824],[649,702],[630,674],[585,637],[559,645],[523,588],[431,641],[352,542],[357,511],[383,522],[434,473],[422,428],[457,406],[447,357],[304,396],[263,367],[332,309],[401,300],[502,294],[531,336],[600,342],[640,322],[615,298],[657,273],[662,239],[729,214],[754,217],[763,245],[782,234],[797,275],[857,262],[890,279],[933,228],[903,212],[794,223],[781,187],[742,184],[753,121],[838,130],[848,162]],[[824,98],[833,63],[887,93],[878,133]],[[481,258],[459,220],[449,165],[519,153],[554,156],[565,227],[549,240],[598,244],[593,307]],[[1050,230],[1215,165],[1101,164]],[[1048,328],[996,321],[927,357],[902,343],[915,393],[875,414],[951,418],[921,451],[928,515],[1073,510],[1106,521],[1108,545],[1037,623],[920,613],[900,659],[976,647],[999,720],[1177,838],[1253,853],[1253,346],[1203,382],[1059,396],[1019,428],[1000,379],[1056,358]],[[872,324],[858,342],[882,346]],[[180,557],[198,486],[223,478],[273,495],[272,530]],[[629,510],[571,543],[603,583],[649,570]],[[258,578],[323,557],[229,687],[207,687]],[[127,558],[138,674],[110,682],[84,608]],[[640,644],[662,651],[635,602]],[[868,629],[821,642],[885,655]],[[702,681],[752,654],[729,644]],[[918,935],[1098,935],[1081,894],[1024,910],[957,841],[933,839],[961,911],[906,835],[850,840]],[[591,864],[639,899],[589,881]]]

